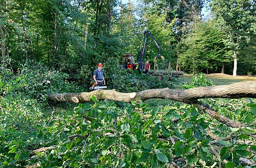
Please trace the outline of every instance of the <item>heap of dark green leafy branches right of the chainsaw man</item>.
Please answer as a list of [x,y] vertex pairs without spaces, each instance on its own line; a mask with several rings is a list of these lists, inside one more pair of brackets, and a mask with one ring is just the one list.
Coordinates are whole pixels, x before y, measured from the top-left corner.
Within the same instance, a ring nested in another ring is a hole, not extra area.
[[107,66],[104,67],[106,85],[110,89],[116,89],[121,92],[172,88],[173,83],[178,80],[171,78],[170,75],[164,75],[159,79],[158,76],[153,76],[152,74],[140,74],[138,70],[120,69],[114,59],[108,59],[106,63]]

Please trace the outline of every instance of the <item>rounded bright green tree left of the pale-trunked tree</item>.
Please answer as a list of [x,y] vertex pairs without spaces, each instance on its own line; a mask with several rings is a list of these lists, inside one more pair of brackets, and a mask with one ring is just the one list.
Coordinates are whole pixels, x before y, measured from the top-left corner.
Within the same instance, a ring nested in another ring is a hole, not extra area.
[[215,28],[214,19],[191,26],[181,46],[179,60],[186,72],[219,73],[223,64],[230,62],[229,50],[223,43],[222,34]]

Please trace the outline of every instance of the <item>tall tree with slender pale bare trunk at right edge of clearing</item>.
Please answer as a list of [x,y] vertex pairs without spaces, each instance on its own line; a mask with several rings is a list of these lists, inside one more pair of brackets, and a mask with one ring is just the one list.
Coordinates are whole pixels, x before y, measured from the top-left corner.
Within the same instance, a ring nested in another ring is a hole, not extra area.
[[233,50],[234,69],[237,73],[237,55],[250,41],[253,23],[256,21],[255,2],[249,0],[212,0],[210,3],[217,26],[225,35],[225,45]]

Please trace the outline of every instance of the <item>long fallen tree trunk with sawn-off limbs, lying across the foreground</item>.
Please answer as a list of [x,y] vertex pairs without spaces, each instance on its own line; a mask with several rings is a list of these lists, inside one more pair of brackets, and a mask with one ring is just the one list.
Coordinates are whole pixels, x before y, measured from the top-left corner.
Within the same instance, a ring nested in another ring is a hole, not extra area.
[[227,117],[220,115],[213,111],[208,104],[197,101],[200,98],[256,98],[256,81],[246,81],[233,83],[230,85],[197,87],[187,90],[177,89],[149,89],[133,93],[121,93],[113,90],[95,90],[89,93],[64,93],[52,94],[49,96],[50,102],[74,102],[83,103],[91,101],[91,97],[95,96],[97,99],[109,99],[115,101],[131,102],[132,100],[148,100],[152,98],[163,98],[183,102],[187,104],[194,104],[197,108],[202,109],[211,117],[217,119],[233,128],[241,127],[241,123],[230,120]]

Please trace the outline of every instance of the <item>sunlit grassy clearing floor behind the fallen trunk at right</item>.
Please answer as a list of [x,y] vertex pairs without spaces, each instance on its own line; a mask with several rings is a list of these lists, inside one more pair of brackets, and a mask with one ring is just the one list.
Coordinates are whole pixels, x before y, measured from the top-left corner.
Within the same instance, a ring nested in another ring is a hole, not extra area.
[[[194,75],[182,75],[180,76],[180,82],[191,82],[191,78]],[[248,75],[239,75],[233,77],[233,75],[228,74],[205,74],[207,79],[213,81],[214,85],[229,85],[236,82],[242,81],[256,81],[256,75],[248,76]]]

